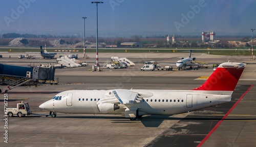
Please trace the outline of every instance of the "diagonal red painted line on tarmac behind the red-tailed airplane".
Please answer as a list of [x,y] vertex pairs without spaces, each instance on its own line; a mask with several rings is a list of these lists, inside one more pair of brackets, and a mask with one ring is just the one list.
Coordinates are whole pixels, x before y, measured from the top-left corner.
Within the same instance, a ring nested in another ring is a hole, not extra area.
[[[239,98],[239,100],[234,103],[234,105],[229,109],[229,111],[222,117],[222,119],[215,125],[215,127],[204,137],[204,139],[197,145],[197,147],[200,147],[204,144],[204,142],[211,136],[212,133],[220,126],[220,124],[226,119],[226,117],[229,115],[229,113],[234,109],[234,107],[237,106],[237,104],[243,99],[243,97],[250,91],[253,85],[251,85],[247,91]],[[246,121],[246,120],[245,120]]]

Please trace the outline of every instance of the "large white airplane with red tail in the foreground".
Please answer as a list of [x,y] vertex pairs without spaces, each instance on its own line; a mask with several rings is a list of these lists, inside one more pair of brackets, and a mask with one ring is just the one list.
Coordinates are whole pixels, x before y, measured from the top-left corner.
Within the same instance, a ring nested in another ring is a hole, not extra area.
[[243,63],[223,63],[193,90],[72,90],[57,94],[39,108],[81,114],[124,114],[136,120],[145,114],[172,115],[231,101],[245,68]]

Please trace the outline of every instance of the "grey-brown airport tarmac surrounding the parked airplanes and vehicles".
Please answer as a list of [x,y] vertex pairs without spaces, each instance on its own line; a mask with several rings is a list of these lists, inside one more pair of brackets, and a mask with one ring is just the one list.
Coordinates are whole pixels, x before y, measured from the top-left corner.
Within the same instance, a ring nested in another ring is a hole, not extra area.
[[[9,58],[9,54],[11,58]],[[18,59],[20,53],[2,53],[0,62],[14,65],[56,63],[56,59]],[[33,54],[32,54],[33,55]],[[190,90],[201,85],[213,70],[140,71],[145,61],[176,63],[187,53],[115,53],[135,62],[127,69],[89,71],[95,63],[90,58],[80,58],[88,67],[56,69],[58,85],[41,84],[37,87],[17,87],[7,93],[8,107],[19,101],[29,102],[34,113],[48,114],[38,106],[66,90],[105,89],[161,89]],[[56,55],[57,56],[57,55]],[[80,53],[78,55],[82,56]],[[100,53],[103,64],[112,53]],[[145,115],[141,120],[130,121],[123,115],[64,114],[57,117],[29,115],[26,117],[4,116],[4,94],[0,95],[1,146],[253,146],[256,144],[256,80],[255,60],[243,55],[209,55],[193,53],[198,62],[211,66],[214,63],[243,62],[246,68],[229,103],[177,115]],[[162,64],[162,66],[165,66]],[[201,77],[201,78],[200,78]],[[0,86],[4,89],[6,86]],[[7,125],[7,129],[5,128]],[[5,131],[8,131],[8,143]]]

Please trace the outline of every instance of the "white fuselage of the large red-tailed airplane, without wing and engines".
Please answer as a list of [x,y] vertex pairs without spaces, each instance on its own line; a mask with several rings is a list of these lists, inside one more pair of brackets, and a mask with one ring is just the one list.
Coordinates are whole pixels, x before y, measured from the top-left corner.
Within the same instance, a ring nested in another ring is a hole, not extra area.
[[[99,101],[108,98],[108,91],[66,91],[56,95],[61,100],[51,99],[40,105],[40,108],[62,113],[85,114],[124,114],[128,109],[138,109],[138,115],[144,114],[178,114],[194,111],[222,103],[229,102],[231,96],[202,94],[198,91],[166,91],[166,90],[126,90],[134,93],[142,93],[143,99],[134,104],[118,104],[119,109],[112,111],[99,111]],[[55,97],[55,98],[56,98]],[[118,101],[117,101],[118,102]],[[108,102],[104,102],[108,103]],[[131,106],[131,107],[130,107]],[[112,108],[112,106],[110,106]],[[110,108],[110,109],[111,109]],[[106,108],[108,109],[108,108]]]

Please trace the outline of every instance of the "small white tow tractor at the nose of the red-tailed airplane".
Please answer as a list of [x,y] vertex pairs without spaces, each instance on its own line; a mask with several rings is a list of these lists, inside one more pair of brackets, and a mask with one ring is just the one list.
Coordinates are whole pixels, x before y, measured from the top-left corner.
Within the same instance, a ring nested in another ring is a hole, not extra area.
[[31,111],[28,103],[20,102],[20,103],[17,103],[17,108],[6,108],[5,114],[8,115],[9,117],[12,117],[15,115],[22,117],[22,116],[30,115]]

